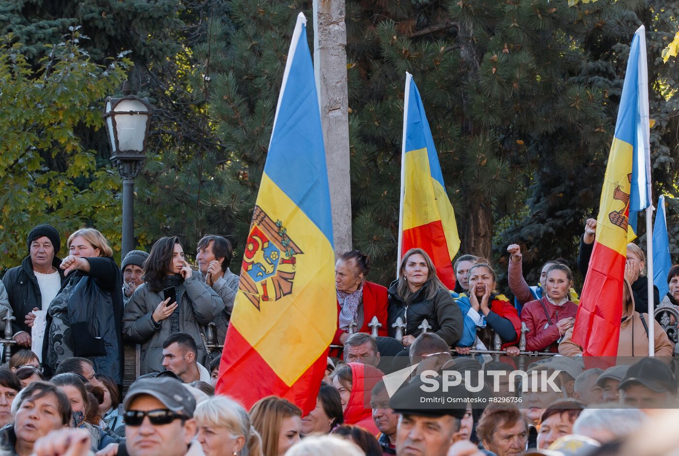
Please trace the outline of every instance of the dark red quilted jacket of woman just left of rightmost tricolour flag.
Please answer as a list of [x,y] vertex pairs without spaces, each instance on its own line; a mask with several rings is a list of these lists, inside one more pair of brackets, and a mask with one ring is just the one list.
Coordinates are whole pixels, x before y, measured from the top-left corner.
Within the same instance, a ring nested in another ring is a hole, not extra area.
[[[545,314],[545,309],[549,314],[549,319]],[[564,318],[575,317],[578,313],[578,305],[572,301],[568,301],[562,306],[553,305],[549,302],[546,296],[542,299],[536,299],[526,303],[521,309],[521,321],[526,323],[528,333],[526,333],[526,350],[528,352],[542,352],[549,348],[551,353],[559,353],[559,344],[556,343],[561,338],[557,322],[564,320]],[[545,324],[549,323],[549,327],[545,328]]]

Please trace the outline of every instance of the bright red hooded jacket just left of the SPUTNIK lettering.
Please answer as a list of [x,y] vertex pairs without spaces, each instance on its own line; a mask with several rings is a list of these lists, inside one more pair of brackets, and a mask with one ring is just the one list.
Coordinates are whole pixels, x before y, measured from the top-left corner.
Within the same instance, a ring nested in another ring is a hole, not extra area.
[[[365,286],[365,285],[364,285]],[[351,424],[365,429],[373,436],[380,431],[373,421],[373,410],[370,408],[370,392],[375,384],[382,380],[382,371],[360,362],[350,362],[351,394],[344,409],[344,424]]]

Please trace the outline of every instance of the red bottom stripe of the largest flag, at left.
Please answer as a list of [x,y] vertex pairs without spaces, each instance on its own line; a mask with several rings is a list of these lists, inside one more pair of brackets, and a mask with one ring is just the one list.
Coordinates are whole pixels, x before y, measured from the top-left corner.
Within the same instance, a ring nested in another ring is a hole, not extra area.
[[[288,386],[231,324],[219,364],[219,380],[215,394],[230,396],[247,409],[266,396],[285,398],[302,409],[307,415],[316,407],[316,396],[327,366],[327,349],[304,374]],[[299,349],[304,349],[300,347]],[[316,392],[310,394],[310,392]]]

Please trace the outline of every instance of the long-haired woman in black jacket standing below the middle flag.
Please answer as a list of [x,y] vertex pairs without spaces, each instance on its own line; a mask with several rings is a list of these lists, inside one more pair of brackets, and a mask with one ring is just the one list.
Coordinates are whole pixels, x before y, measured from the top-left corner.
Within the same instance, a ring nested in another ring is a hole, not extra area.
[[397,318],[405,324],[402,340],[405,347],[422,333],[424,320],[449,346],[462,335],[460,308],[437,277],[434,263],[421,248],[405,252],[399,266],[399,278],[389,288],[388,330],[391,337],[395,337]]

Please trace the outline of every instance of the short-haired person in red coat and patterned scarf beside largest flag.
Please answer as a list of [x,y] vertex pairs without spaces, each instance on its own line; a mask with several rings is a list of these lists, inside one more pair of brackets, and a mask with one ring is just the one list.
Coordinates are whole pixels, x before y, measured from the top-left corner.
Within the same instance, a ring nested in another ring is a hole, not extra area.
[[387,292],[384,286],[365,280],[370,266],[370,258],[359,250],[346,252],[337,260],[337,330],[333,338],[334,345],[344,345],[353,322],[356,322],[355,333],[371,333],[368,324],[375,316],[382,324],[378,328],[378,335],[387,335]]

